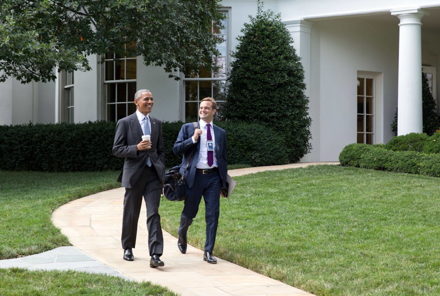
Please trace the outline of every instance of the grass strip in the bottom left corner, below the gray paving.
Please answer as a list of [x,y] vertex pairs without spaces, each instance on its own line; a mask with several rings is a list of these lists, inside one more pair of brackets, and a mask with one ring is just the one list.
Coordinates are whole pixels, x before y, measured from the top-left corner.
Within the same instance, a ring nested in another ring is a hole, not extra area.
[[118,277],[74,271],[0,269],[2,296],[176,296],[150,282],[128,282]]

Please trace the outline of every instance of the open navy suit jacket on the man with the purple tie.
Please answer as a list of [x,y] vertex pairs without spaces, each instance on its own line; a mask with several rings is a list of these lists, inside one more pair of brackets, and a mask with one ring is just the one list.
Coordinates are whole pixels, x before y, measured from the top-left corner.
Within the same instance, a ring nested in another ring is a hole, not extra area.
[[[227,151],[226,151],[226,132],[220,127],[214,126],[214,138],[217,165],[220,171],[221,188],[227,188],[226,186],[226,174],[227,174]],[[177,136],[176,143],[172,148],[172,151],[176,155],[183,155],[182,163],[180,164],[180,174],[183,174],[185,167],[187,166],[191,152],[194,151],[191,162],[187,168],[187,171],[183,177],[188,188],[191,188],[194,184],[195,170],[198,162],[198,152],[200,150],[200,138],[197,142],[192,142],[192,136],[194,135],[194,126],[192,123],[185,123],[180,129],[179,136]]]

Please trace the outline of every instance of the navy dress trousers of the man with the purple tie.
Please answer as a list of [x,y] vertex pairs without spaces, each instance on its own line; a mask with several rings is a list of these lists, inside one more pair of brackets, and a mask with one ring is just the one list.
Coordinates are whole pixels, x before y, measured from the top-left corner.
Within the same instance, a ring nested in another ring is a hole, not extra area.
[[205,251],[213,253],[220,214],[220,173],[218,171],[209,174],[195,173],[194,184],[188,188],[188,197],[180,215],[178,233],[180,237],[187,237],[188,227],[197,215],[202,195],[205,200]]

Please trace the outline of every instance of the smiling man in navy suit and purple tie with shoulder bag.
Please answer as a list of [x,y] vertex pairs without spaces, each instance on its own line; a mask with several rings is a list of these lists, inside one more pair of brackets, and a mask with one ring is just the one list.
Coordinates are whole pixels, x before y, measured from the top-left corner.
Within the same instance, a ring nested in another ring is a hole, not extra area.
[[189,162],[183,177],[187,184],[188,197],[180,216],[177,245],[181,253],[186,253],[188,227],[197,215],[203,195],[206,220],[203,260],[212,264],[217,263],[213,256],[213,249],[220,213],[220,195],[223,196],[221,190],[227,188],[226,132],[213,124],[216,106],[216,101],[212,97],[205,97],[200,102],[198,110],[199,129],[194,129],[192,123],[185,123],[180,129],[173,147],[174,154],[183,154],[180,165],[181,174]]

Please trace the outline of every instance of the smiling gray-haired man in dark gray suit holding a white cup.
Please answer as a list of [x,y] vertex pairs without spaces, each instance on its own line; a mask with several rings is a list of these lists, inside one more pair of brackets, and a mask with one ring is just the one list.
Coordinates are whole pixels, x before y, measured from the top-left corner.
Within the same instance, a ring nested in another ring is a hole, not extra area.
[[[164,266],[160,260],[163,236],[159,215],[159,201],[165,179],[162,122],[149,116],[154,104],[150,90],[138,90],[134,102],[136,112],[117,122],[113,143],[113,154],[125,157],[124,169],[118,178],[125,187],[121,236],[123,258],[134,260],[132,248],[136,245],[143,196],[147,206],[150,267],[159,267]],[[143,135],[150,135],[150,140],[143,140]]]

